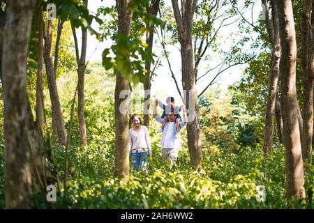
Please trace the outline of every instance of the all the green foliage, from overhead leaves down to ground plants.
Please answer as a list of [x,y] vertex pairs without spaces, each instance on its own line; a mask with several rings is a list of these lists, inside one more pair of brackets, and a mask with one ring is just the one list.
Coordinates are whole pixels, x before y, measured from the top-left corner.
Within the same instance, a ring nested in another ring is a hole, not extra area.
[[[89,15],[87,8],[78,0],[45,1],[57,4],[58,15],[63,20],[70,20],[75,27],[89,29],[91,21],[97,18]],[[147,45],[142,40],[148,24],[156,24],[165,29],[164,23],[156,17],[143,13],[149,1],[136,1],[133,7],[134,23],[130,38],[117,35],[117,11],[115,8],[100,9],[103,15],[115,17],[106,23],[103,31],[107,32],[115,44],[103,52],[103,66],[100,62],[89,63],[85,76],[85,107],[89,146],[80,146],[80,134],[77,121],[77,103],[71,130],[68,155],[68,190],[57,194],[57,203],[48,206],[45,196],[36,191],[33,196],[35,208],[314,208],[314,167],[305,164],[306,199],[285,197],[285,151],[283,146],[275,146],[269,157],[262,153],[259,144],[262,139],[264,107],[267,98],[269,78],[270,49],[269,43],[259,36],[252,45],[253,53],[244,54],[241,47],[232,47],[227,64],[234,61],[249,61],[241,81],[230,88],[228,93],[219,89],[209,89],[200,98],[200,125],[204,162],[200,169],[191,169],[187,147],[186,128],[181,132],[182,149],[177,165],[164,164],[159,145],[160,125],[151,121],[150,134],[153,147],[153,160],[149,160],[148,174],[135,172],[130,162],[130,178],[114,178],[114,86],[113,72],[121,72],[134,83],[144,81],[142,65],[144,60],[153,61],[153,55],[147,53]],[[236,1],[232,1],[236,3]],[[298,1],[299,2],[299,1]],[[299,24],[301,3],[294,1],[295,16]],[[249,1],[245,6],[250,5]],[[202,1],[197,7],[199,20],[194,20],[195,37],[208,38],[214,34],[212,24],[207,24],[204,17],[210,17],[211,3]],[[45,8],[45,7],[44,7]],[[165,8],[164,10],[170,10]],[[227,13],[233,15],[234,10]],[[177,41],[177,29],[171,13],[165,13],[167,31],[172,31],[170,42]],[[98,20],[98,22],[100,22]],[[53,24],[56,29],[56,22]],[[244,26],[244,32],[250,31]],[[266,32],[262,22],[258,24],[262,33]],[[199,31],[197,33],[197,31]],[[106,32],[104,32],[106,33]],[[299,29],[297,35],[299,36]],[[31,52],[28,60],[28,91],[31,105],[35,104],[36,83],[36,36],[32,33]],[[54,33],[56,35],[56,33]],[[75,54],[70,23],[66,22],[61,36],[60,63],[57,85],[63,108],[63,118],[68,129],[70,107],[77,86],[75,72]],[[199,36],[197,36],[199,35]],[[55,39],[55,37],[53,38]],[[247,36],[239,41],[248,43]],[[213,38],[215,49],[216,37]],[[53,43],[54,44],[54,43]],[[54,47],[52,47],[54,49]],[[264,50],[260,50],[264,49]],[[299,45],[298,45],[299,49]],[[114,58],[111,54],[114,54]],[[301,67],[298,61],[298,73]],[[300,77],[301,75],[298,75]],[[300,80],[298,80],[299,83]],[[45,132],[44,151],[47,152],[47,169],[52,174],[49,180],[56,182],[56,176],[62,180],[64,175],[64,146],[59,146],[52,134],[50,100],[46,82],[45,114],[47,132]],[[300,84],[298,85],[300,86]],[[301,89],[301,88],[299,88]],[[0,89],[1,90],[1,89]],[[138,92],[135,92],[138,93]],[[140,93],[139,93],[140,94]],[[134,94],[135,95],[135,94]],[[300,94],[299,94],[300,95]],[[1,95],[2,96],[2,95]],[[137,97],[137,94],[135,95]],[[142,104],[142,99],[140,100]],[[0,100],[3,111],[3,101]],[[138,110],[135,107],[135,111]],[[4,208],[5,186],[5,148],[3,130],[3,112],[0,113],[0,208]],[[46,128],[46,127],[45,127]],[[48,134],[48,135],[47,135]],[[52,162],[52,152],[57,162],[56,171]],[[219,153],[213,153],[219,152]],[[221,153],[220,153],[221,152]],[[131,158],[130,158],[131,160]],[[58,174],[58,175],[57,175]],[[265,201],[257,201],[257,188],[263,186]]]

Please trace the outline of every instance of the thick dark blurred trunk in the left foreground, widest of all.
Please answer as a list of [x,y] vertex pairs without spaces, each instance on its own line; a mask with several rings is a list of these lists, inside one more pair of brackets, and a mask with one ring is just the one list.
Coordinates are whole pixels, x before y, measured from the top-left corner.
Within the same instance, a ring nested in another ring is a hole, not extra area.
[[8,1],[2,73],[6,146],[6,208],[31,207],[31,154],[27,141],[27,55],[33,0]]

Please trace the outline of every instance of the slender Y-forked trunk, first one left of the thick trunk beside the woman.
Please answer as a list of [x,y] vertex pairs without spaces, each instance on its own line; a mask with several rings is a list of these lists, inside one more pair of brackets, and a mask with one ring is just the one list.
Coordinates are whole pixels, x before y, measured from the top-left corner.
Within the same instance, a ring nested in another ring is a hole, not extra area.
[[[87,8],[88,0],[84,0],[84,6]],[[77,35],[75,27],[71,24],[73,30],[73,37],[75,42],[75,52],[77,59],[77,75],[78,75],[78,84],[77,84],[77,115],[79,119],[79,130],[80,130],[80,142],[82,146],[87,146],[87,133],[86,133],[86,123],[84,116],[84,77],[85,77],[85,68],[86,68],[86,49],[87,49],[87,28],[82,27],[82,49],[81,56],[78,49]]]

